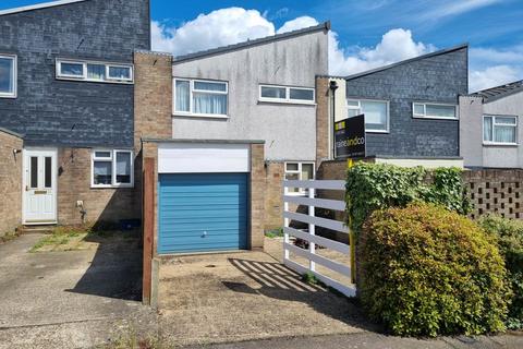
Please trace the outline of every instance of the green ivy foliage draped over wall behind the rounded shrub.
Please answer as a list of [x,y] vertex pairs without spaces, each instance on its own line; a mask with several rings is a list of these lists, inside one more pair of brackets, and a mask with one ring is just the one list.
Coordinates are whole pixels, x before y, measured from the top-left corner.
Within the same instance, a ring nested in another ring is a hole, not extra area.
[[386,164],[357,163],[346,176],[348,225],[357,233],[376,209],[405,207],[412,202],[442,205],[467,214],[472,205],[462,183],[461,169],[402,168]]

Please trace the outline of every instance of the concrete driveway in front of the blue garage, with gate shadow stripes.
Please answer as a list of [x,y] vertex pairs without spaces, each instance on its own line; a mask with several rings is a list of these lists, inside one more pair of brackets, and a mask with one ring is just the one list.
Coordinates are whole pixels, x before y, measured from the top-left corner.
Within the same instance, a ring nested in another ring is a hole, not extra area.
[[182,346],[369,328],[346,298],[265,252],[178,256],[160,267],[158,299],[162,335]]

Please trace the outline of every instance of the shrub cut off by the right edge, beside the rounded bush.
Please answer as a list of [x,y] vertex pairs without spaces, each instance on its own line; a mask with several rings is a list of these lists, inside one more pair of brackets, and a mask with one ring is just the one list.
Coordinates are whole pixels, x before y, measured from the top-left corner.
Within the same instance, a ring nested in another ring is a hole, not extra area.
[[504,256],[513,292],[507,327],[523,328],[523,221],[487,215],[479,219],[479,225],[498,238]]

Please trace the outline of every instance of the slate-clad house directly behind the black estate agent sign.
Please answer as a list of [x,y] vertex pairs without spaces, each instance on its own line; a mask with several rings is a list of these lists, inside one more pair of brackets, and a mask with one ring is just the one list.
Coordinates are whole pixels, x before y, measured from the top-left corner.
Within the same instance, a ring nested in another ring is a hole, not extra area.
[[467,84],[467,45],[351,76],[318,76],[317,161],[337,158],[333,122],[364,113],[367,158],[462,167],[458,104]]

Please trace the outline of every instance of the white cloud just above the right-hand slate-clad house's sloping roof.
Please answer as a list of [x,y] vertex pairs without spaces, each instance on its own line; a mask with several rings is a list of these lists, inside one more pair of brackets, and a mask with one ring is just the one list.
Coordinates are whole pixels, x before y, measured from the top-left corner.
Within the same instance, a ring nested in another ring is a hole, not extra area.
[[335,75],[350,75],[391,64],[397,61],[430,52],[431,45],[416,43],[411,31],[397,28],[384,34],[375,47],[352,47],[342,49],[336,33],[331,33],[329,43],[329,70]]

